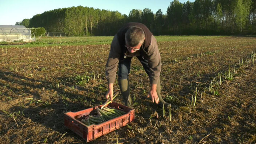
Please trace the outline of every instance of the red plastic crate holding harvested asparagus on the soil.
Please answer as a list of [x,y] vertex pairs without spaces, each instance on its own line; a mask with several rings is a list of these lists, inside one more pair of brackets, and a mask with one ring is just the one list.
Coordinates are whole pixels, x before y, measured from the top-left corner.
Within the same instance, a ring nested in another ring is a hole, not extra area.
[[[100,108],[101,106],[102,105],[97,107]],[[116,129],[119,129],[120,127],[127,125],[127,123],[131,123],[132,121],[134,121],[134,109],[115,102],[108,104],[108,106],[115,107],[115,109],[120,109],[127,113],[119,117],[116,117],[115,119],[105,121],[98,125],[93,124],[87,126],[80,120],[84,119],[88,115],[93,114],[93,112],[96,111],[97,107],[84,109],[78,112],[66,112],[64,113],[64,125],[71,131],[75,132],[77,135],[81,136],[85,141],[89,142],[96,139],[97,137],[115,131]]]

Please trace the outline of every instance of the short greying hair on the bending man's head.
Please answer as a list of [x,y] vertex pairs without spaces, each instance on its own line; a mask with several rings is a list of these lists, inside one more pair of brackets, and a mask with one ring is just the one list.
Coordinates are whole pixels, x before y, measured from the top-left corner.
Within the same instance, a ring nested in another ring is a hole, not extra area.
[[138,44],[144,42],[145,33],[143,29],[139,27],[130,27],[125,33],[125,43],[130,47],[135,47]]

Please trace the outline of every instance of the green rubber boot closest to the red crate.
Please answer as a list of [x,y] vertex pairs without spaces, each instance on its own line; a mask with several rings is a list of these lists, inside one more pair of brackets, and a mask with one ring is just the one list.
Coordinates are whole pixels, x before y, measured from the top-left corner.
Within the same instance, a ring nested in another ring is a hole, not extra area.
[[128,79],[123,79],[123,80],[118,79],[118,84],[119,84],[125,105],[127,107],[132,108],[132,104],[131,104],[132,99],[131,99],[131,95],[130,95],[130,87],[129,87]]

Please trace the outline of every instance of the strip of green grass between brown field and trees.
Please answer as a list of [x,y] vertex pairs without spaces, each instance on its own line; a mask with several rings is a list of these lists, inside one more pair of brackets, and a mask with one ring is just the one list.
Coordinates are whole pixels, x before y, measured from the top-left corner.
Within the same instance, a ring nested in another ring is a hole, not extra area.
[[[215,39],[225,36],[155,36],[157,41],[184,41],[184,40],[204,40]],[[111,44],[113,36],[81,36],[81,37],[43,37],[31,43],[24,42],[1,42],[0,48],[12,47],[48,47],[48,46],[66,46],[66,45],[98,45]]]

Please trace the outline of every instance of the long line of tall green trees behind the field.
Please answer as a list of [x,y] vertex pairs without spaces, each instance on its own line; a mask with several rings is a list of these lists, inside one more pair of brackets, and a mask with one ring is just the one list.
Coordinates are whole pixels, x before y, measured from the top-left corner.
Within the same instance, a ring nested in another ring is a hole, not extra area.
[[128,22],[145,24],[154,35],[252,35],[256,34],[256,0],[173,0],[163,14],[132,9],[129,15],[89,7],[47,11],[16,25],[44,27],[67,36],[115,35]]

